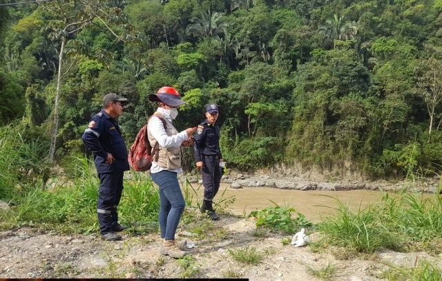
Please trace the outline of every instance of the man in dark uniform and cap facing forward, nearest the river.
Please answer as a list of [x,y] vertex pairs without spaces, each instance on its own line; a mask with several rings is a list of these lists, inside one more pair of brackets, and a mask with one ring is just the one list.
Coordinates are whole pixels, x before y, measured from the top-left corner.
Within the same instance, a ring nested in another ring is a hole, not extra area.
[[213,209],[213,198],[220,189],[222,176],[222,154],[220,150],[220,127],[215,125],[218,119],[218,105],[206,105],[206,121],[198,125],[196,134],[193,134],[195,141],[195,162],[201,170],[202,185],[204,185],[204,200],[201,212],[207,212],[212,220],[219,220],[220,217]]

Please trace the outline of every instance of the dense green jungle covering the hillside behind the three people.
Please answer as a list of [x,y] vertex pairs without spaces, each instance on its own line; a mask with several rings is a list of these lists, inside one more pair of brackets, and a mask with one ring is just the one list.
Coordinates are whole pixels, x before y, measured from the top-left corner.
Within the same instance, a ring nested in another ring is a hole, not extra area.
[[230,167],[441,170],[441,0],[15,3],[0,0],[2,186],[68,170],[108,92],[128,98],[130,146],[164,85],[189,103],[178,129],[218,103]]

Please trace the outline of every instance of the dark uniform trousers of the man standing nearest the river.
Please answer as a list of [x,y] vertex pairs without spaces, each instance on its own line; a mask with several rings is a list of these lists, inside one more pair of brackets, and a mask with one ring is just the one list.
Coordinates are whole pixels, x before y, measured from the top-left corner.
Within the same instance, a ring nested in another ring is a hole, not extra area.
[[201,169],[202,185],[204,185],[204,200],[212,201],[220,189],[222,171],[218,156],[202,156]]

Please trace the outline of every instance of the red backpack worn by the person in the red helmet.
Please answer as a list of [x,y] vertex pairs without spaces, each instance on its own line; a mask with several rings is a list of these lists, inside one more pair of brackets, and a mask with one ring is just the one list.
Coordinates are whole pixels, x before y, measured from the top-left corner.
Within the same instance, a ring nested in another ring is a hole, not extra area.
[[[164,125],[164,129],[166,129],[166,121],[164,121],[161,116],[157,114],[153,114],[152,116],[157,116],[160,118]],[[148,120],[152,118],[152,116],[149,117]],[[129,149],[129,164],[135,171],[147,171],[148,169],[151,169],[154,154],[155,161],[158,160],[158,142],[155,143],[154,147],[152,147],[151,143],[149,143],[147,137],[147,123],[148,122],[146,122],[146,125],[140,129],[140,132],[138,132],[131,149]]]

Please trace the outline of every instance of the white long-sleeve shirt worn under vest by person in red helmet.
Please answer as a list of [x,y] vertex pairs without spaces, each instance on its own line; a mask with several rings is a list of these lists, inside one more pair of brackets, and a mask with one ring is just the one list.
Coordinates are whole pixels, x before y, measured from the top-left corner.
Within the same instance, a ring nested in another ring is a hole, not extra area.
[[[157,112],[160,112],[161,114],[164,115],[164,110],[162,109],[162,107],[158,107]],[[165,118],[165,119],[167,122],[172,124],[171,118]],[[189,138],[187,136],[186,131],[182,131],[173,136],[168,136],[166,134],[166,130],[164,129],[162,121],[160,120],[160,118],[157,118],[155,116],[152,117],[151,120],[148,122],[147,129],[149,130],[149,132],[151,132],[155,140],[157,140],[158,145],[164,148],[180,146],[183,141],[187,141],[187,139]],[[166,168],[160,167],[155,161],[152,162],[151,174],[155,174],[159,171],[164,171],[164,170],[166,170]],[[180,167],[179,169],[173,169],[170,171],[181,173],[182,168]]]

